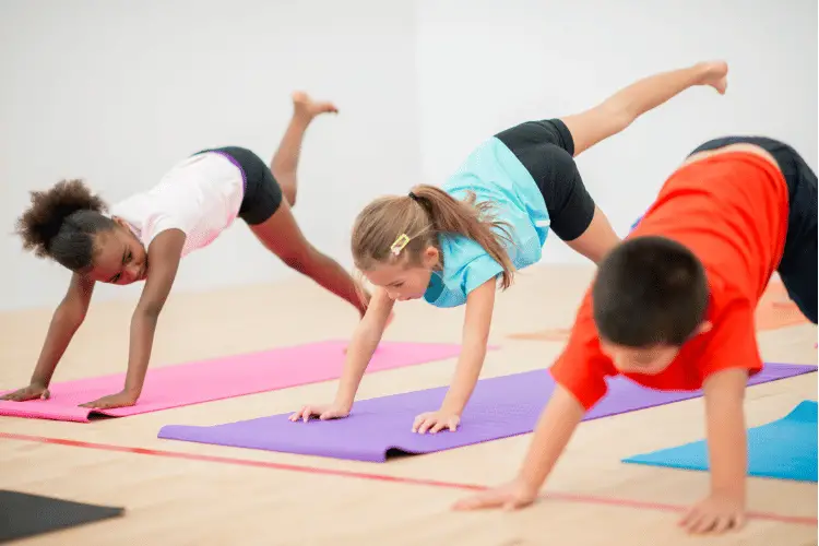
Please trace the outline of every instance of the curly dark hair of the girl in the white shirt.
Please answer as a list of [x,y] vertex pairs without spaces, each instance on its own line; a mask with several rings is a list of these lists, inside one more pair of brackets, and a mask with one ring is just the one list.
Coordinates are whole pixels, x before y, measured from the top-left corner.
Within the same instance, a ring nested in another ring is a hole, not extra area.
[[23,248],[38,258],[50,258],[74,272],[90,269],[94,235],[116,223],[103,215],[105,201],[82,180],[61,180],[47,191],[32,191],[32,205],[16,223]]

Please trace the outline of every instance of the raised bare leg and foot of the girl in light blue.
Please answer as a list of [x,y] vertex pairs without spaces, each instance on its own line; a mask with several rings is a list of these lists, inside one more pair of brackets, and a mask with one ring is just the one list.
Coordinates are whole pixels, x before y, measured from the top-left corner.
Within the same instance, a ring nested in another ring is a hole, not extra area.
[[727,88],[728,66],[699,62],[639,80],[594,108],[561,118],[574,140],[574,156],[619,133],[637,118],[695,85],[709,85],[721,95]]

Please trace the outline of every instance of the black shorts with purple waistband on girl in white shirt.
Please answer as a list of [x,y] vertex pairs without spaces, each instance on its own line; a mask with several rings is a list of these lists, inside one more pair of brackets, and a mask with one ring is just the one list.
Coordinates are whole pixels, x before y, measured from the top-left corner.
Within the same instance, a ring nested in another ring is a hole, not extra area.
[[239,206],[239,217],[248,225],[261,224],[282,205],[282,188],[273,177],[270,167],[250,150],[238,146],[224,146],[202,150],[197,154],[214,152],[226,156],[239,167],[245,179],[245,197]]

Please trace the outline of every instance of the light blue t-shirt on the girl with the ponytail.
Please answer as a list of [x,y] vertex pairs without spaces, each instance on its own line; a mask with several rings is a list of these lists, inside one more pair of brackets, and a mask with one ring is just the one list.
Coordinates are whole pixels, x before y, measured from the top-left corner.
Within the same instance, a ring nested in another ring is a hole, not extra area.
[[[500,140],[491,138],[475,149],[441,189],[459,200],[473,191],[477,202],[492,202],[491,213],[506,223],[513,240],[510,245],[503,238],[503,244],[518,270],[541,260],[549,232],[546,202],[532,175]],[[424,293],[424,299],[436,307],[464,305],[473,289],[503,272],[472,239],[441,234],[439,242],[443,271],[432,273]]]

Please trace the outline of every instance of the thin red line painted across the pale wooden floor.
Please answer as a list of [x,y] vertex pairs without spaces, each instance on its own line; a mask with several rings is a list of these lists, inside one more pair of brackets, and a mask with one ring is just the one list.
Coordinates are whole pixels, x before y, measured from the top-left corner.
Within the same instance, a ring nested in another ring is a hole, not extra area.
[[[56,446],[68,446],[72,448],[96,449],[102,451],[118,451],[121,453],[133,453],[139,455],[163,456],[166,459],[180,459],[185,461],[202,461],[221,464],[234,464],[239,466],[253,466],[259,468],[274,468],[280,471],[301,472],[306,474],[322,474],[330,476],[354,477],[359,479],[370,479],[375,482],[387,482],[393,484],[422,485],[429,487],[441,487],[447,489],[460,489],[467,491],[483,491],[488,487],[476,484],[459,484],[454,482],[439,482],[436,479],[424,479],[414,477],[389,476],[384,474],[371,474],[367,472],[353,472],[334,468],[321,468],[317,466],[302,466],[297,464],[274,463],[270,461],[251,461],[247,459],[235,459],[217,455],[202,455],[195,453],[185,453],[179,451],[165,451],[146,448],[131,448],[128,446],[114,446],[109,443],[95,443],[80,440],[69,440],[64,438],[47,438],[41,436],[19,435],[13,432],[0,432],[0,438],[8,440],[31,441],[38,443],[51,443]],[[607,505],[624,508],[639,508],[665,512],[685,512],[688,507],[678,505],[665,505],[661,502],[646,502],[641,500],[618,499],[610,497],[596,497],[593,495],[572,495],[569,492],[549,491],[545,499],[562,500],[568,502],[582,502],[592,505]],[[817,518],[784,515],[769,512],[749,512],[748,517],[758,520],[776,521],[781,523],[795,523],[800,525],[817,525]]]

